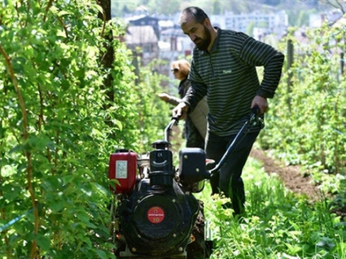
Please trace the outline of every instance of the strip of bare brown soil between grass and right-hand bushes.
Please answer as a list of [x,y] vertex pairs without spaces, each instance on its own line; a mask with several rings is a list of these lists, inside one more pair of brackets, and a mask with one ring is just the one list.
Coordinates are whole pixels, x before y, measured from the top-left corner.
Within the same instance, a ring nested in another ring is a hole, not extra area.
[[306,194],[311,202],[320,200],[320,191],[311,184],[310,177],[304,177],[300,171],[300,166],[285,166],[273,160],[260,149],[255,149],[250,153],[251,157],[260,160],[264,164],[267,173],[277,173],[285,186],[295,193]]

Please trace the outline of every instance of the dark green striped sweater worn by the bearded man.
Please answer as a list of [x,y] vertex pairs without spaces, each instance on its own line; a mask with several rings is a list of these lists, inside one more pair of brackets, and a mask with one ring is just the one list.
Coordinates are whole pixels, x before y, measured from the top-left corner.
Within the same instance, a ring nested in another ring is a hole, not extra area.
[[[237,134],[250,113],[255,95],[272,98],[279,84],[284,55],[242,32],[217,28],[210,52],[194,48],[183,102],[193,111],[207,95],[208,131],[219,136]],[[260,84],[256,66],[264,66]]]

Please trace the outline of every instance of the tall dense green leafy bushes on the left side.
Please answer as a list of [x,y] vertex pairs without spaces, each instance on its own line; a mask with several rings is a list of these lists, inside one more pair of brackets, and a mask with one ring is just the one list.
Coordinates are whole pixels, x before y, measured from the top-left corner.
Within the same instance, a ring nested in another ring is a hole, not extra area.
[[109,155],[140,153],[163,133],[170,117],[158,111],[168,107],[154,102],[163,77],[142,68],[134,84],[131,53],[118,39],[114,68],[101,66],[104,35],[124,31],[98,19],[94,1],[1,4],[0,255],[113,258]]

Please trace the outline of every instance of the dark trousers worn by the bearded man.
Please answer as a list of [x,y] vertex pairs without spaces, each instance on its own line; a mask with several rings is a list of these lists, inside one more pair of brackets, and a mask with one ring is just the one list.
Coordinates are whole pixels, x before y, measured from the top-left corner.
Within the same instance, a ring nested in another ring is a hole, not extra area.
[[[245,191],[242,171],[259,133],[260,131],[248,133],[241,142],[238,142],[234,151],[228,156],[224,166],[210,179],[212,194],[224,193],[226,197],[230,198],[232,202],[231,208],[236,215],[244,213]],[[208,133],[206,137],[207,158],[215,160],[216,165],[224,153],[226,153],[228,146],[232,144],[235,136],[219,137]]]

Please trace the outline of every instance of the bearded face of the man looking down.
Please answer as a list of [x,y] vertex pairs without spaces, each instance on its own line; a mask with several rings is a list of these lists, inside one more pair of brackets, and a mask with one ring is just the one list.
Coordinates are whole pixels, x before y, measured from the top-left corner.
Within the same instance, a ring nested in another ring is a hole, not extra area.
[[192,18],[188,18],[185,23],[181,25],[185,35],[188,35],[190,39],[196,44],[199,50],[208,50],[208,46],[211,42],[211,34],[208,28],[203,24],[197,23]]

